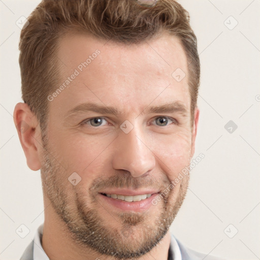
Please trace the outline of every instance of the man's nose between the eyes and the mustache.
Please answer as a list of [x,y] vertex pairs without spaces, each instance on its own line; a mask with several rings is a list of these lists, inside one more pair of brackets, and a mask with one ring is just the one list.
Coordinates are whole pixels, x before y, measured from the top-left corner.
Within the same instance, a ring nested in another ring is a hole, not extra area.
[[114,143],[113,168],[128,171],[134,178],[146,175],[155,167],[155,157],[145,142],[144,134],[134,127],[128,134],[119,129]]

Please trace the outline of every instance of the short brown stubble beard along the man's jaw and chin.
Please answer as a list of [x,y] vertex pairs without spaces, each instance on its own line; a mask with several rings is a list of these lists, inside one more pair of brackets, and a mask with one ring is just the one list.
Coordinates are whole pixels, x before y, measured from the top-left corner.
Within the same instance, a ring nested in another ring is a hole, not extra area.
[[[122,212],[118,215],[119,227],[113,228],[98,213],[102,205],[92,203],[90,207],[84,196],[75,190],[73,194],[67,194],[66,171],[50,155],[48,145],[44,146],[41,168],[43,191],[57,216],[66,223],[74,243],[85,250],[90,249],[116,259],[129,259],[146,254],[164,238],[185,199],[189,174],[182,179],[175,203],[169,201],[174,188],[169,192],[169,197],[161,201],[163,205],[153,223],[147,221],[145,214]],[[64,179],[60,180],[60,177]],[[71,192],[71,189],[68,190]]]

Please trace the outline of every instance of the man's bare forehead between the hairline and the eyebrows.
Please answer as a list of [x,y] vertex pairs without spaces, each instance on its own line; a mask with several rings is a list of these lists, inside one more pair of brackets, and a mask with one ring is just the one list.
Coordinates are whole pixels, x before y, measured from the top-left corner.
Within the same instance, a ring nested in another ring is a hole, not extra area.
[[[62,37],[57,52],[60,85],[70,78],[52,102],[68,110],[88,101],[129,111],[173,101],[190,105],[187,59],[179,39],[161,35],[140,44],[115,43],[73,32]],[[71,80],[71,75],[77,74]],[[174,74],[175,75],[175,74]],[[57,86],[59,87],[59,86]],[[64,90],[63,90],[64,89]],[[55,89],[54,89],[55,90]],[[67,109],[66,108],[66,109]]]

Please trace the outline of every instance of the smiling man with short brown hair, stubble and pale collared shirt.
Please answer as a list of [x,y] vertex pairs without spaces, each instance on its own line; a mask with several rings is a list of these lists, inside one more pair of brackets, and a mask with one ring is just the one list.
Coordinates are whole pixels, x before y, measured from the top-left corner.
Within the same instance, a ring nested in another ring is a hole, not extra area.
[[32,12],[14,120],[41,169],[45,220],[21,259],[217,259],[169,231],[199,119],[188,19],[173,0],[46,0]]

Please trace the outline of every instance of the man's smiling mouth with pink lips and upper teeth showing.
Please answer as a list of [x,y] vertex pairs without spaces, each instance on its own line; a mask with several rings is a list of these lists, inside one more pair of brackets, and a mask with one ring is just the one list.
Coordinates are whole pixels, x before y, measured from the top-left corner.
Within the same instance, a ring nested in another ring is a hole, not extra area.
[[[104,206],[121,211],[142,212],[152,206],[152,200],[158,196],[159,191],[131,191],[113,190],[100,192],[99,198],[104,202]],[[111,208],[112,207],[112,208]]]

